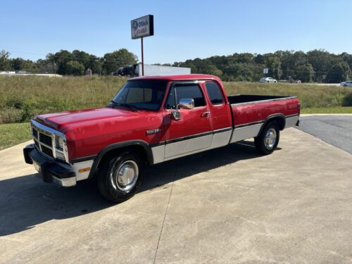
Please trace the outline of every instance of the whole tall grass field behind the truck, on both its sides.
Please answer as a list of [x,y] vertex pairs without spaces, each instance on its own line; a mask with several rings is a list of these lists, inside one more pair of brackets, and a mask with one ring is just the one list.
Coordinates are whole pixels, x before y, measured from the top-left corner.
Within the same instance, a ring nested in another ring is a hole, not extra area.
[[[110,76],[0,76],[0,124],[26,122],[42,113],[106,106],[125,81],[125,78]],[[335,108],[341,106],[352,106],[352,89],[346,87],[259,82],[224,84],[228,94],[298,96],[303,112],[330,113],[340,111]]]

